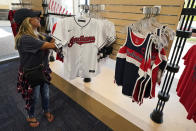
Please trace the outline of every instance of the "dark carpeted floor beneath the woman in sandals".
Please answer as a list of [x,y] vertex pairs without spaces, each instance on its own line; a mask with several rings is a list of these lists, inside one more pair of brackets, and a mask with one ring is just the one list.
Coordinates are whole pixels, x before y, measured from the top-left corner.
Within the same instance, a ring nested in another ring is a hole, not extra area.
[[24,101],[16,91],[18,60],[0,64],[0,131],[111,131],[72,99],[50,86],[53,123],[43,117],[41,103],[36,107],[40,126],[32,129],[25,120]]

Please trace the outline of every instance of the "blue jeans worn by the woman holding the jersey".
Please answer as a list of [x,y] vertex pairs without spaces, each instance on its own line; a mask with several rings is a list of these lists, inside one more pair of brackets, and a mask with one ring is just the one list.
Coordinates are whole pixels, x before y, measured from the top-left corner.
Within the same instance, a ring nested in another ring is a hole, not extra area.
[[30,118],[34,117],[35,105],[39,100],[40,94],[42,100],[42,109],[44,112],[49,112],[49,85],[45,83],[43,86],[38,85],[33,87],[33,103],[30,110],[28,111],[28,115]]

